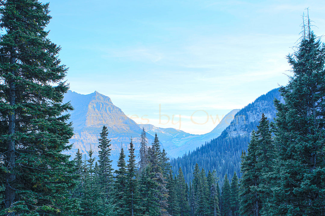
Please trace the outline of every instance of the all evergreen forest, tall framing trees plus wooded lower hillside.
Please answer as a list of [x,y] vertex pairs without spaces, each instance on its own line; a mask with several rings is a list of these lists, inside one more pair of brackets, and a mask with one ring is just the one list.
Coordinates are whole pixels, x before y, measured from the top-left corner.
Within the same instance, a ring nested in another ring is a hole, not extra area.
[[106,126],[98,158],[91,146],[64,154],[73,107],[62,103],[67,67],[47,38],[49,4],[0,4],[0,215],[325,215],[325,44],[309,17],[287,56],[293,75],[273,90],[274,119],[263,113],[250,136],[223,133],[178,159],[143,129],[139,157],[130,137],[114,170]]

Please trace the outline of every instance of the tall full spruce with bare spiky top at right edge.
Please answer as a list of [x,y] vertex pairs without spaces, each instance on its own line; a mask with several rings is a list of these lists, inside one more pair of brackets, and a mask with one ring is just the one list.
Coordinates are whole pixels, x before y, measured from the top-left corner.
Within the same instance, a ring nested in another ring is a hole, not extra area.
[[276,215],[325,214],[325,45],[304,25],[297,51],[288,55],[293,76],[275,100],[279,173],[273,188]]

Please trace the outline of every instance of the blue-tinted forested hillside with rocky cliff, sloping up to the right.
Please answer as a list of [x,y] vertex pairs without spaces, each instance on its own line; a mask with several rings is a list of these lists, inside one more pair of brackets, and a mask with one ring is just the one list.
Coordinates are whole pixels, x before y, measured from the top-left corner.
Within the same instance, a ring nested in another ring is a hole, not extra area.
[[240,177],[241,152],[247,150],[251,133],[256,129],[262,114],[264,113],[270,121],[276,116],[273,104],[275,98],[283,101],[278,88],[242,108],[219,137],[183,157],[171,159],[173,171],[176,172],[181,167],[185,179],[189,182],[193,178],[194,166],[198,163],[206,172],[216,170],[221,183],[225,174],[232,176],[236,172]]

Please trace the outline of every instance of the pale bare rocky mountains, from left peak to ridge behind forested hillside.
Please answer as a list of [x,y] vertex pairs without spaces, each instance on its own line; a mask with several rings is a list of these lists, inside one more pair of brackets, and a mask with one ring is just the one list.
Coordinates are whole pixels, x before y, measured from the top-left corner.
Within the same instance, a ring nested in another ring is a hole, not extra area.
[[66,153],[74,158],[75,153],[80,149],[83,154],[87,155],[87,151],[91,147],[94,150],[94,156],[98,159],[99,133],[103,125],[105,125],[108,128],[108,137],[111,140],[111,160],[113,160],[112,165],[114,168],[117,165],[121,145],[127,152],[131,137],[137,157],[142,127],[147,132],[149,145],[153,141],[155,133],[157,133],[162,148],[166,150],[168,156],[178,157],[219,136],[238,111],[233,110],[227,114],[210,133],[194,135],[173,128],[158,128],[149,124],[137,125],[136,122],[128,118],[120,108],[112,103],[110,97],[97,91],[88,95],[68,91],[63,102],[70,102],[74,108],[74,110],[70,111],[74,135],[69,140],[71,144],[73,143],[73,147]]

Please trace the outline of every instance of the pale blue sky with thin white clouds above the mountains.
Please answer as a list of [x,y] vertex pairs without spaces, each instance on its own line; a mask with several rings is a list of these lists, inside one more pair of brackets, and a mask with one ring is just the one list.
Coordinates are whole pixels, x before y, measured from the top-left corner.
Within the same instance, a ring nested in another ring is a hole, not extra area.
[[72,91],[107,95],[137,123],[202,134],[287,83],[306,7],[325,34],[324,1],[297,0],[53,0],[48,29]]

